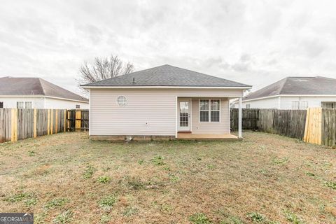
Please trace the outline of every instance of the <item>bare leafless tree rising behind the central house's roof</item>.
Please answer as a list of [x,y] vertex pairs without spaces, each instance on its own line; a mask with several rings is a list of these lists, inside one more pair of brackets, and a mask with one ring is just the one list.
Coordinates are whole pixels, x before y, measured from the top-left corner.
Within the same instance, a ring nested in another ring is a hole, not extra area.
[[84,62],[79,68],[78,84],[93,83],[134,71],[134,65],[123,62],[118,56],[96,57],[92,64]]

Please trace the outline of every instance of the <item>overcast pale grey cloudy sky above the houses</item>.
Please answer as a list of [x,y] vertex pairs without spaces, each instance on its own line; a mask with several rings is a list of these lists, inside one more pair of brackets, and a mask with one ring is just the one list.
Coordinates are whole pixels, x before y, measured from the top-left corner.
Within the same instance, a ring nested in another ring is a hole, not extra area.
[[336,1],[1,1],[0,77],[78,92],[83,61],[119,55],[253,85],[336,78]]

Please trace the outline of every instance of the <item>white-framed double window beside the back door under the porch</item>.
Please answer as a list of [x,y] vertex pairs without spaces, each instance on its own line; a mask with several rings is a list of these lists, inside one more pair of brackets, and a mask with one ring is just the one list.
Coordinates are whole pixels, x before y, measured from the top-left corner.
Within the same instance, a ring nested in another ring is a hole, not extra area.
[[200,122],[219,122],[221,120],[221,100],[200,99]]

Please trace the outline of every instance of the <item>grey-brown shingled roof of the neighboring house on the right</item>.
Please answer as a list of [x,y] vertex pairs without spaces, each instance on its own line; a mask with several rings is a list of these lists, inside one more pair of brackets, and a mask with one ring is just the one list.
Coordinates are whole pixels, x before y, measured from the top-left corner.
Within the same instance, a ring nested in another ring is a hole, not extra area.
[[251,92],[244,100],[277,95],[336,95],[336,79],[321,76],[287,77]]

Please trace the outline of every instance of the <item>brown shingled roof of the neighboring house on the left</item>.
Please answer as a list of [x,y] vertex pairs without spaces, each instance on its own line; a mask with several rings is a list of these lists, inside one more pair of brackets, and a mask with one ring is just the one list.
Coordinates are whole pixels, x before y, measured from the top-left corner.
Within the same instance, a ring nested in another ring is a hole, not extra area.
[[43,95],[45,97],[57,97],[75,101],[89,101],[42,78],[0,78],[0,95]]

